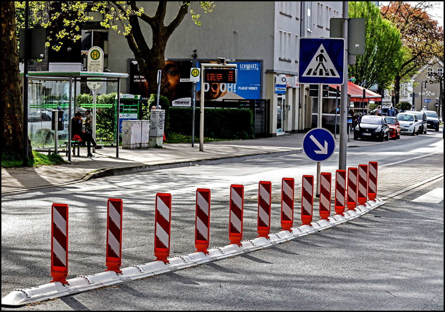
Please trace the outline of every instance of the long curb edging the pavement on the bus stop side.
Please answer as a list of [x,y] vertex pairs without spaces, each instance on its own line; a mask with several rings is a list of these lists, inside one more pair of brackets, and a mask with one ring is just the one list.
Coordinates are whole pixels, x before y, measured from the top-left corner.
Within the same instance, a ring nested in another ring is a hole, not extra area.
[[206,159],[200,159],[200,160],[182,160],[182,161],[177,161],[177,162],[169,162],[169,163],[161,163],[161,164],[148,164],[148,165],[144,164],[144,165],[128,166],[128,167],[120,167],[120,168],[108,168],[108,169],[104,169],[104,170],[98,171],[98,172],[89,172],[84,177],[77,179],[77,180],[69,181],[69,182],[53,184],[53,185],[42,185],[42,186],[36,186],[36,187],[24,188],[24,189],[12,189],[12,190],[8,190],[8,191],[2,191],[1,193],[7,194],[7,193],[25,192],[25,191],[30,191],[30,190],[34,190],[34,189],[48,189],[50,187],[64,186],[64,185],[69,185],[69,184],[73,184],[73,183],[77,183],[77,182],[81,182],[81,181],[93,180],[93,179],[97,179],[97,178],[101,178],[101,177],[112,177],[112,176],[119,176],[119,175],[138,173],[138,172],[154,171],[154,170],[160,170],[160,169],[190,167],[190,166],[194,166],[194,165],[233,163],[233,162],[237,162],[237,161],[241,161],[241,160],[299,154],[302,152],[303,152],[303,148],[296,148],[294,150],[284,151],[284,152],[267,152],[267,153],[256,153],[256,154],[249,154],[249,155],[243,155],[243,156],[226,156],[226,157],[217,157],[217,158],[206,158]]

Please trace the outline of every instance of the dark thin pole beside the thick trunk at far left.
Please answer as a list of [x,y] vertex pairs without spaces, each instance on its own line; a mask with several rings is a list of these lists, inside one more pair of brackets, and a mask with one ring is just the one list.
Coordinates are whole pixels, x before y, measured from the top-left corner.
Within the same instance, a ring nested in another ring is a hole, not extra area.
[[23,166],[28,167],[28,52],[29,46],[29,1],[25,1],[25,58],[23,80]]

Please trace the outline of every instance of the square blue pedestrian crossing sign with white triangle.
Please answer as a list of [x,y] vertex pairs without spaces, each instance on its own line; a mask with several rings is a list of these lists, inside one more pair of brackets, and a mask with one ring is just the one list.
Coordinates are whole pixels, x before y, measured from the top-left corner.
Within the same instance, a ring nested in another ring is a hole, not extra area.
[[299,39],[299,83],[342,85],[343,69],[343,38]]

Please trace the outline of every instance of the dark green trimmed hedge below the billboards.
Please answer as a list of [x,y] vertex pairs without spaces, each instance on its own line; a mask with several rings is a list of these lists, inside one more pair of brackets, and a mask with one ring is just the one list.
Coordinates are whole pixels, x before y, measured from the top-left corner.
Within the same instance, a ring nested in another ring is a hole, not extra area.
[[[192,109],[170,107],[170,131],[191,135]],[[199,136],[199,108],[195,110],[195,137]],[[204,136],[214,139],[255,138],[253,113],[242,108],[205,108]]]

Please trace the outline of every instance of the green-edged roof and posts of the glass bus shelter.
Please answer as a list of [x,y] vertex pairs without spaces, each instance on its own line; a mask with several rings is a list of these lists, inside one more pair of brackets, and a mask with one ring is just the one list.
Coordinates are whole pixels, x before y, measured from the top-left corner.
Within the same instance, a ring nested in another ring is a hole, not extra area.
[[[24,79],[24,72],[20,72],[20,76]],[[86,82],[88,78],[94,78],[95,81],[117,82],[117,94],[121,94],[121,78],[128,78],[125,73],[106,73],[91,71],[30,71],[28,72],[29,80],[53,80],[69,82],[69,111],[68,111],[68,160],[71,161],[71,109],[76,107],[76,82]],[[100,79],[100,80],[99,80]],[[74,83],[74,101],[73,101],[73,83]],[[22,84],[23,85],[23,84]],[[26,91],[27,92],[27,91]],[[120,96],[117,97],[117,114],[121,104]],[[24,103],[25,105],[25,103]],[[27,105],[27,103],[26,103]],[[23,116],[24,123],[28,122],[28,116]],[[116,123],[116,158],[119,157],[119,118],[117,116]]]

